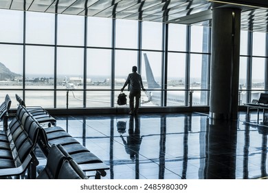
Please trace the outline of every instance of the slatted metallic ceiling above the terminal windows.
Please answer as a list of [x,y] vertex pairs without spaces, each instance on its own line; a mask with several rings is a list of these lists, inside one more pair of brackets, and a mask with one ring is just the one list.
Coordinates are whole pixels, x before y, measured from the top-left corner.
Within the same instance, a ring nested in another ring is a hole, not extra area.
[[0,8],[210,26],[212,8],[241,8],[241,30],[268,32],[267,0],[0,0]]

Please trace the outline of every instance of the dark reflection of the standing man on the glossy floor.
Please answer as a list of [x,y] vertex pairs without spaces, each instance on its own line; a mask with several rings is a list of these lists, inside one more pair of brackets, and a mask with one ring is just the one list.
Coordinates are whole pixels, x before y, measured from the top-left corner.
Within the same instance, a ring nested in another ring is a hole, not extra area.
[[139,154],[140,144],[142,143],[142,137],[140,136],[139,130],[139,118],[135,116],[135,130],[134,130],[134,116],[129,119],[129,136],[126,140],[121,135],[122,141],[124,143],[124,148],[126,153],[130,155],[131,160],[137,159]]

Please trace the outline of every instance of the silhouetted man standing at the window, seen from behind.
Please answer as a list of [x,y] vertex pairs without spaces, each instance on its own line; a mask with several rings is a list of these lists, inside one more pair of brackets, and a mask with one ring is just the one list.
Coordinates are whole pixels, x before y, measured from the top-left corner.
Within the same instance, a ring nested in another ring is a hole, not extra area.
[[[123,92],[126,85],[129,85],[129,114],[137,114],[139,110],[139,99],[141,96],[141,88],[144,89],[144,85],[142,84],[142,77],[140,74],[137,74],[137,66],[132,67],[132,73],[126,79],[123,88],[121,91]],[[135,98],[135,108],[134,108],[134,98]]]

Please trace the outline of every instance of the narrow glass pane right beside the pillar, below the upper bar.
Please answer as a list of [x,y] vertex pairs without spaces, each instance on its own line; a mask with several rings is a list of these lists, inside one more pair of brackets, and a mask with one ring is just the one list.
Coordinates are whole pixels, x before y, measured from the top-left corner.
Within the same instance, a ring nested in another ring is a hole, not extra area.
[[[239,66],[239,90],[247,89],[247,57],[240,57]],[[239,105],[247,103],[247,92],[240,91]]]

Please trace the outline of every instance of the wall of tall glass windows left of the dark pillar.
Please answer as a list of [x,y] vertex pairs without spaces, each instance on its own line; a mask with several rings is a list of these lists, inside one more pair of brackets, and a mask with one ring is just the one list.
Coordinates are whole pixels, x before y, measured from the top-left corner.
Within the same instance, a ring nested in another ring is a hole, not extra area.
[[[188,78],[190,88],[199,90],[193,93],[194,98],[197,96],[199,99],[197,102],[194,101],[194,104],[206,105],[208,92],[202,95],[203,91],[200,90],[208,89],[210,55],[203,53],[210,51],[210,28],[190,27],[190,53],[186,53],[188,27],[168,24],[168,63],[164,63],[164,26],[161,22],[142,21],[142,34],[139,34],[140,21],[116,19],[113,37],[113,19],[108,18],[40,12],[24,14],[23,11],[12,10],[0,10],[0,15],[0,62],[16,74],[12,78],[5,78],[5,83],[1,82],[1,88],[18,88],[17,93],[22,95],[25,85],[27,104],[42,103],[45,107],[52,108],[56,97],[56,108],[111,107],[115,105],[111,104],[111,97],[118,96],[126,77],[131,73],[132,66],[137,65],[147,89],[146,92],[142,92],[142,106],[161,105],[161,94],[164,93],[161,88],[164,88],[164,84],[167,84],[168,88],[168,106],[187,105],[185,89]],[[55,24],[58,25],[56,30]],[[139,35],[142,37],[141,48],[138,48]],[[261,34],[260,38],[256,33],[254,37],[257,44],[265,40],[264,34]],[[115,48],[112,47],[113,41]],[[261,53],[255,48],[254,54],[265,56],[264,48],[260,48]],[[139,53],[142,53],[141,58]],[[190,54],[190,77],[186,74],[187,54]],[[148,63],[144,60],[145,56]],[[164,68],[164,65],[167,65],[167,68]],[[168,70],[168,81],[161,82],[165,69]],[[112,70],[115,70],[114,74]],[[111,80],[111,77],[115,79]],[[1,78],[3,79],[3,76]],[[262,79],[264,82],[264,75]],[[111,83],[115,83],[114,95]],[[57,89],[56,96],[54,88]],[[38,99],[38,96],[43,97]]]

